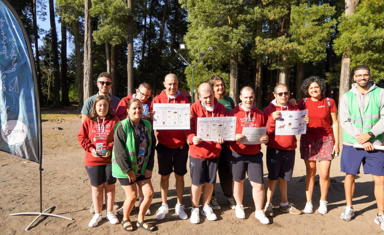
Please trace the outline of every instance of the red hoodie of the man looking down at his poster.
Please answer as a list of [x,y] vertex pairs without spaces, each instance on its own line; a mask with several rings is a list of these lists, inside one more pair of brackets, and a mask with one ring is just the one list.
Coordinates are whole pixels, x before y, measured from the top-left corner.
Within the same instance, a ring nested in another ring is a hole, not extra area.
[[214,98],[214,110],[207,111],[201,106],[201,101],[198,99],[191,105],[193,119],[191,119],[191,129],[185,130],[185,136],[189,141],[189,155],[195,158],[211,159],[217,158],[220,155],[221,145],[213,141],[202,141],[198,145],[193,144],[193,137],[197,133],[197,118],[198,117],[226,117],[227,110],[225,107]]

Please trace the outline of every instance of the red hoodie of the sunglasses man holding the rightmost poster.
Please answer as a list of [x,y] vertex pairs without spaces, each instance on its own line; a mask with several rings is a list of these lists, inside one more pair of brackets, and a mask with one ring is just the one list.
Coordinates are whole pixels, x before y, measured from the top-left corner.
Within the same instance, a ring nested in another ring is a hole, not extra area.
[[274,148],[280,150],[295,150],[296,145],[296,136],[275,136],[274,130],[276,125],[276,120],[273,120],[272,113],[275,111],[298,111],[299,108],[296,106],[292,106],[288,102],[287,107],[281,107],[276,104],[275,99],[272,100],[270,105],[265,108],[264,115],[268,118],[267,120],[267,134],[269,137],[269,141],[267,144],[267,148]]

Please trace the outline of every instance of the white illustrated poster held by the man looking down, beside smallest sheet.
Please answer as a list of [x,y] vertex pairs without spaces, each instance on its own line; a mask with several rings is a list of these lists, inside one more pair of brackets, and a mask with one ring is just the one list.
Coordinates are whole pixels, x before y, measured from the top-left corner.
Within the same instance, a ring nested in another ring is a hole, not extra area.
[[203,141],[234,141],[236,117],[205,117],[197,118],[197,137]]

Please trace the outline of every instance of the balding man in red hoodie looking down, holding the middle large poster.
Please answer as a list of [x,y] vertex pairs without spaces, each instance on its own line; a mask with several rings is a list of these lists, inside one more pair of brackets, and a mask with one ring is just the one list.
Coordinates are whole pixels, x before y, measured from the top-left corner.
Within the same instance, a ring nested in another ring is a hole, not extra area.
[[201,215],[208,220],[217,220],[216,215],[210,207],[212,191],[216,183],[216,172],[221,151],[221,144],[224,143],[222,137],[217,141],[203,141],[196,136],[198,117],[225,117],[227,110],[220,104],[214,96],[212,87],[208,83],[200,84],[198,88],[199,99],[191,105],[192,119],[191,128],[185,130],[185,135],[189,141],[190,148],[190,173],[192,178],[191,185],[191,223],[199,223],[199,201],[202,185],[202,210]]

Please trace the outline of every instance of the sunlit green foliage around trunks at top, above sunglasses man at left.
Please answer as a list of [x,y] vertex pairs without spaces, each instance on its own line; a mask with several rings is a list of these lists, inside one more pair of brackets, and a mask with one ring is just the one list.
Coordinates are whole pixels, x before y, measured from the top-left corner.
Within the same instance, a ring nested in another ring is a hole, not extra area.
[[97,30],[92,33],[97,44],[109,42],[115,46],[127,39],[131,10],[126,1],[92,0],[90,14],[99,20]]

